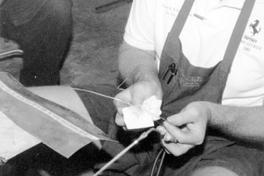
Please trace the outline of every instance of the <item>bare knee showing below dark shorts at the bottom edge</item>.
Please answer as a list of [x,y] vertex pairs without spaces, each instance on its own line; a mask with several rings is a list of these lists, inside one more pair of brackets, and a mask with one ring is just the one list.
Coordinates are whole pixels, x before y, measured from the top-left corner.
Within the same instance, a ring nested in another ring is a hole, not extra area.
[[218,166],[212,166],[212,167],[203,167],[195,172],[191,176],[239,176],[232,170],[228,170],[225,167],[218,167]]

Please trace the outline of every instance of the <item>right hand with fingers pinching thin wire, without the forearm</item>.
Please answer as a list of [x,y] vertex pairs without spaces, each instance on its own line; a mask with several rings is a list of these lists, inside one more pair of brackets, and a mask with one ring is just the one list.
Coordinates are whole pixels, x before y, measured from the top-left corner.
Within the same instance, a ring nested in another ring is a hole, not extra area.
[[168,122],[165,121],[163,125],[178,142],[167,143],[162,140],[163,146],[171,154],[179,156],[202,144],[210,116],[210,108],[203,102],[195,102],[187,105],[181,113],[168,117]]

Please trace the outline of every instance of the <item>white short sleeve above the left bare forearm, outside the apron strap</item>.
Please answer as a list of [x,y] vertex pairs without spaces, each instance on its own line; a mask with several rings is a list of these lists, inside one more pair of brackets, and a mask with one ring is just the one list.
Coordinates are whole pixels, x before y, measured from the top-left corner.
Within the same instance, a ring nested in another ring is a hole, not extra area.
[[143,50],[154,50],[154,15],[156,0],[133,0],[124,40]]

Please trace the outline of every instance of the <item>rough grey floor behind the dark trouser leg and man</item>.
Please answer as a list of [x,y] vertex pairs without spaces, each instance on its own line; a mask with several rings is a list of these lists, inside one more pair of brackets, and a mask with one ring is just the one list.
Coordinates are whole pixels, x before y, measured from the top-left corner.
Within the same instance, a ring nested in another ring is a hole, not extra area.
[[[73,0],[73,39],[61,70],[61,84],[116,83],[116,58],[131,3],[96,13],[96,8],[118,0]],[[120,0],[119,0],[120,1]],[[0,71],[19,78],[21,58],[1,61]]]

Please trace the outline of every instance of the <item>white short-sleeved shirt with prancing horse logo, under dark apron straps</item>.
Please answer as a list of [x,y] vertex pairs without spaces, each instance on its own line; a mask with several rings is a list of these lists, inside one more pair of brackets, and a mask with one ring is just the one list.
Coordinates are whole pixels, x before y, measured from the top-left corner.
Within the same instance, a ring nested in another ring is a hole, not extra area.
[[[184,0],[133,0],[124,40],[156,51],[159,64],[166,37]],[[196,0],[181,32],[183,53],[194,66],[223,60],[243,0]],[[263,30],[261,30],[261,28]],[[255,30],[255,31],[254,31]],[[223,93],[224,105],[263,105],[264,0],[256,0]]]

